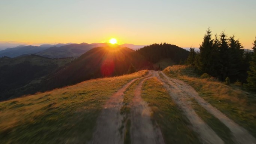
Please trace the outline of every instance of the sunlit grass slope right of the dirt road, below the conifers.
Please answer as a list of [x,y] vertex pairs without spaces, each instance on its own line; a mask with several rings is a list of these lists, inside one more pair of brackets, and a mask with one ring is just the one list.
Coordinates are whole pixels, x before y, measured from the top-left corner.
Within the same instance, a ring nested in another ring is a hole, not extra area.
[[176,65],[164,71],[191,85],[205,101],[256,137],[256,95],[214,79],[200,79],[193,67]]

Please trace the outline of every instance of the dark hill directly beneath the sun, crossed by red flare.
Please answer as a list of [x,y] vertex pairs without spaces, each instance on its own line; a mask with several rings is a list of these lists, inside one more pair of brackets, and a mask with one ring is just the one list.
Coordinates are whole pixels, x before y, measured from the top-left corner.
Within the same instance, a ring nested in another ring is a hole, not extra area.
[[118,45],[93,48],[47,77],[43,82],[43,88],[52,89],[83,80],[126,74],[131,64],[139,70],[147,63],[129,48]]

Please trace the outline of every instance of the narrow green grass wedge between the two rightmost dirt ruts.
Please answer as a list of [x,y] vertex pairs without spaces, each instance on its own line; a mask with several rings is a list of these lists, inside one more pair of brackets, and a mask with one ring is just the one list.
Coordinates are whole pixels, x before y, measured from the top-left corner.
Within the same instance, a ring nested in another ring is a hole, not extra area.
[[219,119],[210,114],[207,110],[205,110],[195,99],[191,99],[193,104],[193,109],[207,123],[208,126],[216,132],[216,134],[224,141],[225,144],[234,144],[232,140],[232,133],[229,128],[220,122]]

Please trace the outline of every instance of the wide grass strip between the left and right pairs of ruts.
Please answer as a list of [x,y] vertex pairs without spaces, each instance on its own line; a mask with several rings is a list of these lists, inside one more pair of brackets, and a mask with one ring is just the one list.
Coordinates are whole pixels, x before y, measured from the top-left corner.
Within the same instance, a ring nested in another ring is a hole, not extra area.
[[201,143],[190,127],[189,120],[182,114],[156,77],[146,80],[142,90],[141,97],[148,102],[153,112],[152,119],[158,123],[165,144]]

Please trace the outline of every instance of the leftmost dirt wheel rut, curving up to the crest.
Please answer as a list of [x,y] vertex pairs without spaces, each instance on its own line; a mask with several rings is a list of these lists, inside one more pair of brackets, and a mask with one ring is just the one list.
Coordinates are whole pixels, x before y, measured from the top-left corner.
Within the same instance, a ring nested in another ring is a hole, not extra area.
[[[150,75],[151,72],[149,72]],[[124,136],[121,135],[121,128],[124,115],[120,113],[123,105],[124,92],[135,81],[141,78],[133,79],[122,89],[110,96],[104,105],[104,109],[97,119],[97,126],[92,136],[90,144],[122,144]],[[122,130],[124,134],[124,129]]]

